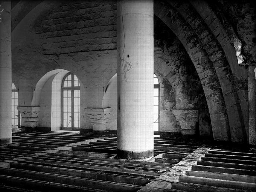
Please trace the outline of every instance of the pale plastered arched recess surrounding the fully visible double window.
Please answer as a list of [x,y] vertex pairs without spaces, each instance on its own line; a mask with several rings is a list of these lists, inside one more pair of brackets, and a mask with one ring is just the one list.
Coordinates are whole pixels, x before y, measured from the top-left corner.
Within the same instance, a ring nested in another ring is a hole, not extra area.
[[[38,113],[38,126],[47,130],[61,129],[61,85],[65,75],[70,72],[64,69],[56,69],[47,72],[38,81],[31,102],[31,106],[40,106]],[[85,88],[80,80],[81,96],[85,98]],[[80,111],[83,111],[85,102],[82,101]]]

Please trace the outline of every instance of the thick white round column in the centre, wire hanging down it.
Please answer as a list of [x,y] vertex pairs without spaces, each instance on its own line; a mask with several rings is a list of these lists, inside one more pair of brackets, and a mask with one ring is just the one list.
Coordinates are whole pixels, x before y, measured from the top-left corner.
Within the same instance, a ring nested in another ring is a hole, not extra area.
[[153,0],[117,1],[117,157],[153,156]]

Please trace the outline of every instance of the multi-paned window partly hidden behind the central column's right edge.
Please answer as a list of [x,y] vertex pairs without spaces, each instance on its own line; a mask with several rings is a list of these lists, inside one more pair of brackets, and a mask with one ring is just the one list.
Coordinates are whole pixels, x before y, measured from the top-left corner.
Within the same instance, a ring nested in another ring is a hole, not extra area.
[[159,130],[159,81],[154,74],[154,131]]

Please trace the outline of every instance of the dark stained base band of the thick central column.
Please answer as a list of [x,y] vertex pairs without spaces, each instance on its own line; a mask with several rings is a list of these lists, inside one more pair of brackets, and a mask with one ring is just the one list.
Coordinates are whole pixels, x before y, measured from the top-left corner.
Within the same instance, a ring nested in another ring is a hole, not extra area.
[[153,156],[154,156],[154,150],[133,152],[133,151],[125,151],[125,150],[117,149],[117,159],[146,161],[151,159]]

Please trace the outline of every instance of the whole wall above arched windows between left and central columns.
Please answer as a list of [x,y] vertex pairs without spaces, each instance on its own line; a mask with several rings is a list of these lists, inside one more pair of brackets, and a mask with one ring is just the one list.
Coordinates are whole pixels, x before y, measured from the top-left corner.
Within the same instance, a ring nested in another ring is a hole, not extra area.
[[[35,86],[44,74],[66,69],[84,84],[84,108],[102,107],[104,89],[116,68],[116,1],[73,1],[72,9],[65,5],[67,1],[61,2],[62,6],[52,7],[34,24],[24,18],[13,31],[12,74],[20,105],[31,105]],[[34,17],[33,11],[27,17]],[[83,109],[81,117],[85,118]],[[82,122],[84,127],[91,126],[87,120]]]

